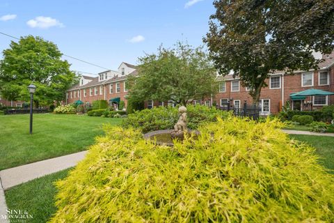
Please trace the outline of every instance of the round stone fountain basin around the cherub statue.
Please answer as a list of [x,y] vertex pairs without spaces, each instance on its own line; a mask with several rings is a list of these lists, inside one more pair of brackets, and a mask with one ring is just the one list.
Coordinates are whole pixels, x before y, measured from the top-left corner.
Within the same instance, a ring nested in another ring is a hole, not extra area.
[[[171,132],[173,132],[173,130],[157,130],[153,132],[148,132],[144,134],[144,139],[152,140],[158,145],[174,146],[173,138],[170,135]],[[188,130],[188,134],[191,133],[196,134],[195,139],[197,139],[197,135],[200,134],[200,132],[198,132],[197,130]]]

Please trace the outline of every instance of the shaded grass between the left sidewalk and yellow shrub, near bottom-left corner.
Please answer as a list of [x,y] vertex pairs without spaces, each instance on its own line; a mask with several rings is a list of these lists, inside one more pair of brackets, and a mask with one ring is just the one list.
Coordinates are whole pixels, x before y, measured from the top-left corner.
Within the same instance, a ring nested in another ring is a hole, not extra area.
[[5,196],[8,208],[27,211],[29,215],[33,215],[32,219],[25,219],[24,222],[47,222],[56,212],[54,196],[57,191],[54,182],[65,178],[68,171],[70,169],[37,178],[7,190]]

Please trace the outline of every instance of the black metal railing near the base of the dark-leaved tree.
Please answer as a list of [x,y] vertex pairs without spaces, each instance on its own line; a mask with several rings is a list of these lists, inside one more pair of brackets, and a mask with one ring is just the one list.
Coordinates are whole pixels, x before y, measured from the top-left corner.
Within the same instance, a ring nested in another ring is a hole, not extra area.
[[261,111],[261,108],[257,105],[248,105],[246,100],[244,102],[244,107],[233,107],[230,105],[230,102],[226,102],[217,108],[224,111],[233,111],[234,116],[250,117],[254,120],[257,120],[260,117]]

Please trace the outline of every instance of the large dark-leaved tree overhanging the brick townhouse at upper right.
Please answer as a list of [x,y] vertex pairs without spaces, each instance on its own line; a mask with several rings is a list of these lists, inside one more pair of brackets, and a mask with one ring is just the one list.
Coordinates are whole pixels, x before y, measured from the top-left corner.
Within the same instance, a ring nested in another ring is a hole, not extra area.
[[317,69],[312,52],[331,53],[333,0],[220,0],[205,43],[222,75],[234,71],[258,102],[271,72]]

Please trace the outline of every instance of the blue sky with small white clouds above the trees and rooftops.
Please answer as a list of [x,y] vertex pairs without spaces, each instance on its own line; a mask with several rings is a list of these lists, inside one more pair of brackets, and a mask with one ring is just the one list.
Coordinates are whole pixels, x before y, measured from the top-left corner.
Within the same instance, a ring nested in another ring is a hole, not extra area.
[[[116,70],[137,63],[144,52],[177,40],[202,45],[214,13],[212,0],[0,0],[0,31],[12,36],[42,36],[70,56]],[[0,35],[0,50],[10,39]],[[104,69],[73,59],[72,70]]]

